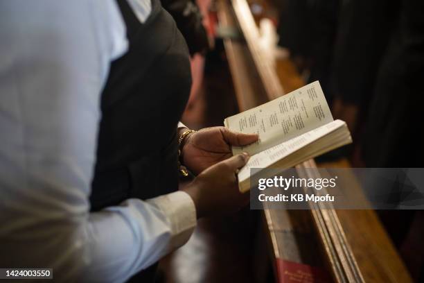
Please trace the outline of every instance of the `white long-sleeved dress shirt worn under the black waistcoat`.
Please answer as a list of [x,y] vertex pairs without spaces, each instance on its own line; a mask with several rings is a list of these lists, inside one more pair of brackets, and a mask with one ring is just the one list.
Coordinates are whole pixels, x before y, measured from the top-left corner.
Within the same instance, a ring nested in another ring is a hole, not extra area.
[[89,212],[100,92],[127,49],[114,0],[0,1],[0,40],[0,267],[123,282],[182,246],[182,191]]

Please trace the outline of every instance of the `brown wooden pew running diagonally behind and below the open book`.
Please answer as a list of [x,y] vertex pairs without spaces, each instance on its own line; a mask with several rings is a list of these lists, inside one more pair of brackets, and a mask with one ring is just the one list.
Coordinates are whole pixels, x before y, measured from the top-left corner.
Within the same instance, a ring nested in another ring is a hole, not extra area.
[[[303,85],[288,58],[273,65],[264,55],[246,0],[219,0],[217,9],[220,27],[241,35],[240,39],[224,39],[240,111]],[[348,162],[324,166],[346,167]],[[306,168],[317,165],[314,160],[299,164],[299,175],[310,174]],[[362,196],[353,176],[339,186]],[[371,209],[265,209],[264,219],[278,282],[412,282]]]

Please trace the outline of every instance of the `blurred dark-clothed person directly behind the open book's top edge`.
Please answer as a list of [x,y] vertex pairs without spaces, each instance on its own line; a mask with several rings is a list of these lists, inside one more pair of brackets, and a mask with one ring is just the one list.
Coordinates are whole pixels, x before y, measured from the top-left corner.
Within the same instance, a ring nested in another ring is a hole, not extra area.
[[338,10],[339,0],[283,0],[277,28],[279,46],[290,50],[305,83],[319,80],[328,103]]

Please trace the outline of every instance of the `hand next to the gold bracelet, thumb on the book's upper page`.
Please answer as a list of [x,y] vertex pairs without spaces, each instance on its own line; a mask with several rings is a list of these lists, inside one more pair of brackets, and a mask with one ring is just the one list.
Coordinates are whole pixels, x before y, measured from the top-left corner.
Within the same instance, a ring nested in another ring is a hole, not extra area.
[[184,140],[182,163],[197,175],[233,156],[231,146],[247,146],[257,140],[256,134],[232,132],[225,127],[204,128]]

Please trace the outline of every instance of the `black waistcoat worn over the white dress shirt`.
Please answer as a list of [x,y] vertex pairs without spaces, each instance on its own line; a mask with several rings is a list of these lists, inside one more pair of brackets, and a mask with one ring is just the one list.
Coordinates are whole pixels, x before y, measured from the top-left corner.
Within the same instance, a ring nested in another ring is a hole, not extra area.
[[176,130],[191,87],[186,42],[159,0],[143,24],[127,1],[117,2],[130,44],[112,62],[101,98],[92,211],[177,190]]

